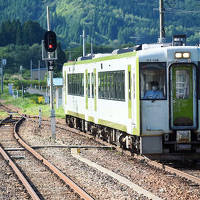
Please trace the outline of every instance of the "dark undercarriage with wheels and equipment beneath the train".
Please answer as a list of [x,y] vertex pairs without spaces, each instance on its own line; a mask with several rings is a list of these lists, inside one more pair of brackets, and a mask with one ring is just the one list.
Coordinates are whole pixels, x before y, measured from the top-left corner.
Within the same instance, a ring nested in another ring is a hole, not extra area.
[[[66,124],[78,129],[82,132],[89,133],[90,135],[97,137],[110,144],[116,145],[122,149],[128,150],[131,153],[141,153],[141,137],[135,135],[129,135],[126,132],[122,132],[110,127],[97,125],[92,122],[85,121],[83,119],[66,115]],[[177,150],[178,144],[176,141],[166,142],[166,136],[163,135],[163,153],[162,154],[145,154],[146,157],[152,160],[159,161],[199,161],[200,160],[200,142],[195,142],[195,147],[190,150]],[[197,149],[197,150],[196,150]]]

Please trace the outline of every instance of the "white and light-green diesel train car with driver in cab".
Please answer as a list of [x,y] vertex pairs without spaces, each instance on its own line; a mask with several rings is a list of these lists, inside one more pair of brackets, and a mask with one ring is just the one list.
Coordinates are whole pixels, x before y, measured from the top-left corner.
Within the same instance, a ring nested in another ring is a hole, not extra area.
[[151,159],[199,160],[199,75],[183,35],[65,63],[66,123]]

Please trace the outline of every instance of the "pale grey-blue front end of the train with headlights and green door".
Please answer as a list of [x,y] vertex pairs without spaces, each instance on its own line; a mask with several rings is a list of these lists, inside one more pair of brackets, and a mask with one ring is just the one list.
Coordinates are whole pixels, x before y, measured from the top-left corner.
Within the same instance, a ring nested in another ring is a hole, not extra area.
[[199,47],[157,47],[138,54],[141,153],[159,160],[199,159]]

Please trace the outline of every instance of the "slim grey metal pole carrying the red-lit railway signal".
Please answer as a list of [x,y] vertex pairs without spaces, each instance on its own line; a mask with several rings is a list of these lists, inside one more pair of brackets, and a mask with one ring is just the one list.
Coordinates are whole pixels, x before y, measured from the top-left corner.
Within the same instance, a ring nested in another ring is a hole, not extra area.
[[[47,6],[47,29],[50,31],[50,20],[49,20],[49,7]],[[51,58],[48,52],[48,58]],[[51,134],[53,140],[56,139],[56,123],[55,123],[55,111],[53,105],[53,71],[49,71],[50,78],[50,107],[51,107]]]

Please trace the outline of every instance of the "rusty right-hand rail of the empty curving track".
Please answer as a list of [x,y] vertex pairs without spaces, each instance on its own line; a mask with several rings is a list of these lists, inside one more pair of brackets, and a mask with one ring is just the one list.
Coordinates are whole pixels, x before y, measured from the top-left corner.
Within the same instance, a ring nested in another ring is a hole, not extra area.
[[18,135],[18,126],[25,120],[22,118],[19,123],[15,124],[14,128],[14,137],[16,140],[32,155],[34,155],[38,160],[40,160],[44,165],[46,165],[54,174],[56,174],[61,180],[63,180],[71,189],[73,189],[81,198],[85,200],[94,200],[88,193],[86,193],[82,188],[80,188],[74,181],[72,181],[69,177],[63,174],[57,167],[51,164],[48,160],[46,160],[43,156],[37,153],[33,148],[27,145],[21,137]]

